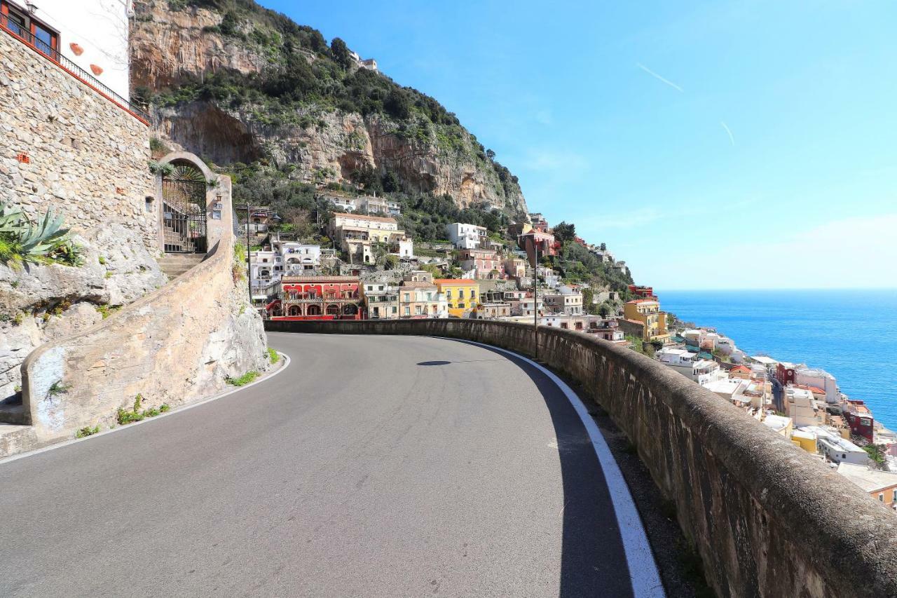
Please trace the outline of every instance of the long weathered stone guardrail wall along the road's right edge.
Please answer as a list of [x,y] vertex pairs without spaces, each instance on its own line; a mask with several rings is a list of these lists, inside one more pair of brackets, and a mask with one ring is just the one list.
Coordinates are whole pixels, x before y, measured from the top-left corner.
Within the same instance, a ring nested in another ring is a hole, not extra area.
[[[266,330],[469,339],[534,355],[527,324],[266,321]],[[582,384],[631,442],[719,596],[897,596],[897,518],[837,472],[681,374],[542,327],[538,358]]]

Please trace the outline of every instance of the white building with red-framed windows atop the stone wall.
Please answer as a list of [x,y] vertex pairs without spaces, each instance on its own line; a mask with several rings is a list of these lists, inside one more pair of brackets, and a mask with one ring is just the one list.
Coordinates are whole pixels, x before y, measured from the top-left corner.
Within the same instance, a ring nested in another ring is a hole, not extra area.
[[42,52],[50,56],[58,52],[122,100],[130,99],[131,0],[4,0],[0,4],[12,31],[33,32],[34,45]]

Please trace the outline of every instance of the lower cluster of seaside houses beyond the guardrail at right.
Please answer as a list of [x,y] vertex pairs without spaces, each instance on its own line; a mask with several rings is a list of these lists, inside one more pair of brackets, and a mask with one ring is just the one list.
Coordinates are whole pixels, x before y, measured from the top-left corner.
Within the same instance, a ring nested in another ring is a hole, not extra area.
[[[652,290],[639,287],[637,292],[645,296],[626,303],[630,312],[637,313],[630,305],[644,306],[644,313],[665,321]],[[648,324],[645,330],[649,332]],[[658,362],[742,409],[897,511],[897,434],[875,420],[865,401],[841,392],[832,374],[771,356],[749,356],[712,328],[677,322],[669,330],[658,325],[650,334],[651,340],[662,340],[653,354]]]

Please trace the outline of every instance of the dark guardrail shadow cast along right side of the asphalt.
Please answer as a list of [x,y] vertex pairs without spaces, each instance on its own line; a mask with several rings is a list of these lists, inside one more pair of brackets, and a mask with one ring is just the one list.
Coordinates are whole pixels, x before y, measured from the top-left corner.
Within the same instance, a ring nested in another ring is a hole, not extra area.
[[[475,345],[462,339],[447,340]],[[535,367],[495,348],[483,348],[518,365],[536,383],[551,414],[561,460],[564,497],[558,595],[562,598],[631,596],[629,567],[626,565],[614,506],[607,490],[604,472],[579,414],[561,389]],[[444,363],[446,362],[422,362],[418,365]],[[520,524],[526,525],[526,522]]]

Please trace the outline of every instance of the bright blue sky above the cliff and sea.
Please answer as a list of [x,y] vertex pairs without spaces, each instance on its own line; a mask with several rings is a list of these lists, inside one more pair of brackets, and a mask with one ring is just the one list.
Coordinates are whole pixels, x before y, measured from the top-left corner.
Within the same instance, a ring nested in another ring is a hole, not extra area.
[[262,4],[457,113],[641,284],[897,286],[897,3]]

